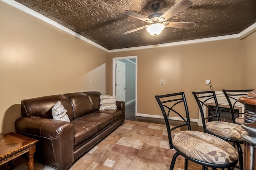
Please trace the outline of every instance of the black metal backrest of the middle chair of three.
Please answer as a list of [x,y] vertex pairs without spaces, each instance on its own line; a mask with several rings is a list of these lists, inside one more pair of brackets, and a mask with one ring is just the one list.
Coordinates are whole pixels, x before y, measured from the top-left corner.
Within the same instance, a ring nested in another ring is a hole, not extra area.
[[[202,92],[192,92],[196,103],[198,104],[199,111],[202,118],[202,125],[204,132],[207,132],[205,123],[208,121],[220,121],[220,109],[218,106],[218,101],[216,94],[213,90],[211,91],[202,91]],[[211,106],[213,104],[214,109]],[[206,113],[211,113],[207,115]]]

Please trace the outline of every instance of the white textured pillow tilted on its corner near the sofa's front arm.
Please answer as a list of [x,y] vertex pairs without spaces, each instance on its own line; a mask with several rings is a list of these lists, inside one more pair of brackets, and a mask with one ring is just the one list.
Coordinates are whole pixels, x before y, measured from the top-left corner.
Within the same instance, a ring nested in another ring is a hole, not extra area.
[[52,107],[52,117],[55,120],[62,120],[62,121],[68,121],[70,122],[70,119],[67,115],[67,110],[64,109],[64,106],[58,101],[53,107]]

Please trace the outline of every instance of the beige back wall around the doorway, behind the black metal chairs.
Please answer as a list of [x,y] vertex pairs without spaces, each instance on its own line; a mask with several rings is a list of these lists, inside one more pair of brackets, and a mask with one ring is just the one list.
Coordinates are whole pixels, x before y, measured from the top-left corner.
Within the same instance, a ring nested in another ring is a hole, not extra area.
[[[198,119],[192,91],[241,88],[241,58],[238,39],[172,47],[110,53],[113,57],[138,56],[138,113],[161,115],[155,95],[185,92],[190,118]],[[109,62],[110,62],[109,61]],[[112,68],[109,68],[109,77]],[[160,81],[164,80],[164,85]],[[109,80],[112,92],[112,80]]]

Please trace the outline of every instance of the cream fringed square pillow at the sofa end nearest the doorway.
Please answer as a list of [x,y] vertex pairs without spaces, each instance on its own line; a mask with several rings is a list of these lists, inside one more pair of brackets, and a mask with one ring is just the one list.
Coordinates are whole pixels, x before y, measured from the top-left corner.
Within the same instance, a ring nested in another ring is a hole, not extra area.
[[100,96],[99,110],[116,110],[116,96]]

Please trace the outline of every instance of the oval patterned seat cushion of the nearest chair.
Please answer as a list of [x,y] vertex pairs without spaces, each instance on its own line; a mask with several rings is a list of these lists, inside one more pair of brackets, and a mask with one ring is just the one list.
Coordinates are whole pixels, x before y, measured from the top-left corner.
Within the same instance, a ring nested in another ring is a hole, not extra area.
[[238,152],[228,142],[199,131],[180,131],[172,135],[174,147],[186,156],[212,164],[238,160]]

